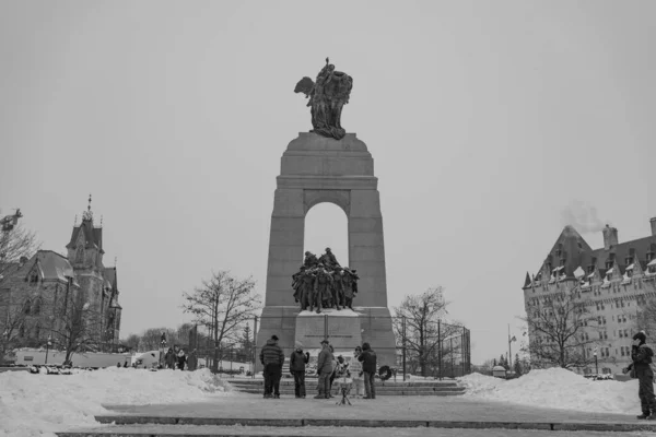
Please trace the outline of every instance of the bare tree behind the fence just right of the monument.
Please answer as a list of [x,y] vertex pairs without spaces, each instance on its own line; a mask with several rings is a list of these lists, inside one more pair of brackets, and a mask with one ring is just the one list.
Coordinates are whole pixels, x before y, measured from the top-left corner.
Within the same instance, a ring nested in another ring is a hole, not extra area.
[[[461,327],[458,323],[441,323],[446,316],[448,302],[444,299],[442,286],[431,287],[421,295],[408,295],[399,307],[395,307],[396,317],[393,328],[396,338],[406,350],[412,351],[422,376],[427,376],[429,366],[442,366],[449,356],[450,345],[437,350],[445,339],[454,335]],[[413,367],[411,358],[411,367]]]

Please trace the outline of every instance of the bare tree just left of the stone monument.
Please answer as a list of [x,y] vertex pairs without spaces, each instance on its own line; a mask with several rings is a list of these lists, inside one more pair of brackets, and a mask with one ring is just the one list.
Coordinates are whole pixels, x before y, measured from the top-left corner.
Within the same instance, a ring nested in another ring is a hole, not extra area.
[[259,297],[254,293],[251,277],[238,280],[227,271],[212,273],[209,281],[194,293],[184,293],[185,312],[190,312],[195,321],[210,329],[214,345],[212,371],[219,370],[220,349],[223,342],[238,342],[239,329],[259,307]]

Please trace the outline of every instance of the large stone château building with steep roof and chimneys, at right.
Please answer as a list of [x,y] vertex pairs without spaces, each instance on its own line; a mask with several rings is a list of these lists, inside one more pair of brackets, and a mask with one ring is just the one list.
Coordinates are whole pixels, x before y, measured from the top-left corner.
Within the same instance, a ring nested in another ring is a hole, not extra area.
[[[586,302],[595,327],[579,335],[595,340],[582,353],[597,352],[599,373],[618,374],[630,362],[631,336],[636,332],[641,305],[656,298],[656,217],[651,235],[620,243],[618,229],[606,225],[604,247],[593,249],[572,226],[565,226],[540,270],[524,282],[524,304],[529,320],[544,302],[560,292],[575,290]],[[529,323],[530,326],[530,323]],[[529,342],[541,341],[529,329]],[[576,371],[596,371],[595,365]]]

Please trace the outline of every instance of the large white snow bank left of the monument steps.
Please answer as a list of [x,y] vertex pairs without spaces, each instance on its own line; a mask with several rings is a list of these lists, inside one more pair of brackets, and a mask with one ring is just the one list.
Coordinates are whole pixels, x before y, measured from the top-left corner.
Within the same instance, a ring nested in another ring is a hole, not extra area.
[[138,405],[230,395],[227,382],[197,371],[107,368],[73,375],[0,373],[0,436],[55,436],[54,432],[97,425],[102,404]]

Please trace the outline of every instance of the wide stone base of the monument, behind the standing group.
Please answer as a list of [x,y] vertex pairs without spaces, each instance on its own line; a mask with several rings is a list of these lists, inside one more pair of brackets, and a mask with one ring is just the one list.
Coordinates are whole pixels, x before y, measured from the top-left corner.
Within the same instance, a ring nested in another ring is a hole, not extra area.
[[321,309],[320,314],[301,311],[298,307],[265,307],[257,332],[256,371],[261,371],[259,351],[276,334],[278,344],[289,361],[294,343],[316,356],[321,340],[328,339],[336,355],[352,356],[358,345],[367,342],[376,352],[378,367],[396,367],[396,341],[391,316],[386,307],[353,307],[336,310]]

